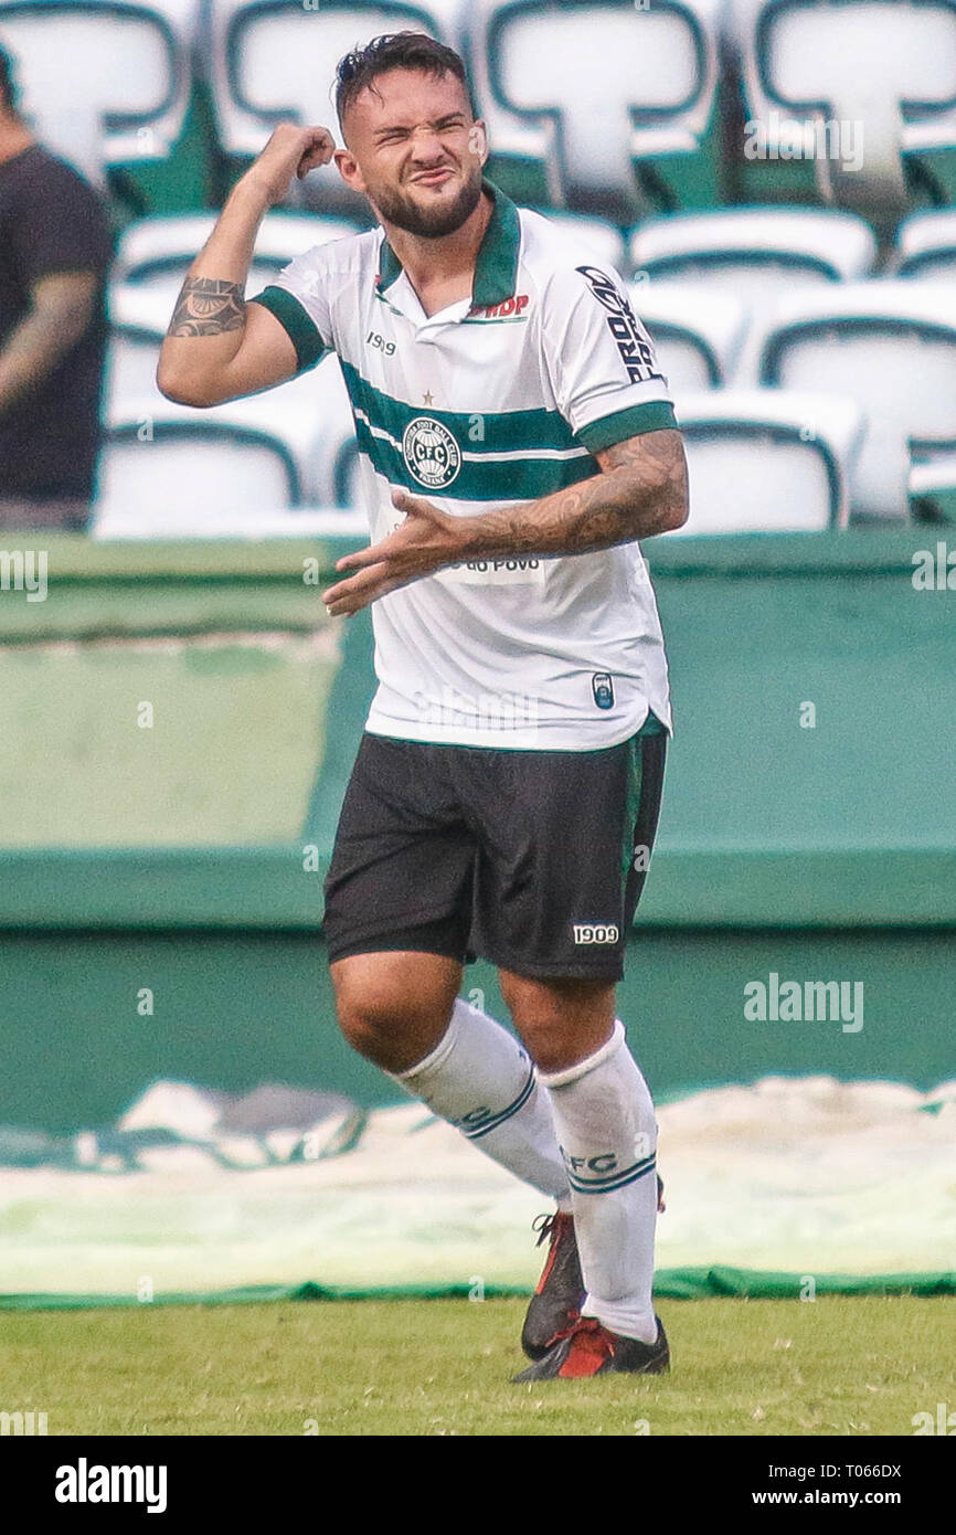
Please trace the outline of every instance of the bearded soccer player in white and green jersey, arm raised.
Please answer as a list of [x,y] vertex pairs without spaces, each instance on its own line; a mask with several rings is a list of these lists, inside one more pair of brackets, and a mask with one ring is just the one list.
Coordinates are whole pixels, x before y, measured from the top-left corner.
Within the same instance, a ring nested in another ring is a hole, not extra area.
[[[213,405],[339,356],[377,692],[324,930],[339,1024],[555,1200],[517,1380],[668,1368],[654,1104],[615,1016],[671,731],[637,540],[686,520],[666,381],[620,276],[485,175],[462,60],[414,32],[338,69],[344,149],[281,124],[193,262],[158,384]],[[264,212],[335,158],[379,226],[244,301]],[[460,996],[499,970],[519,1039]]]

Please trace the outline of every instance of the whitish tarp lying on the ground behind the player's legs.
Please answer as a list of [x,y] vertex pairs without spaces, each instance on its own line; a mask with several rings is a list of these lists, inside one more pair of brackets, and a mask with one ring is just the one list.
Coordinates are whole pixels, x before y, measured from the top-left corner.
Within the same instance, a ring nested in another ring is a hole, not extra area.
[[[766,1078],[664,1104],[658,1124],[661,1269],[956,1269],[956,1082]],[[135,1171],[92,1137],[89,1171],[0,1170],[0,1292],[525,1285],[540,1268],[529,1223],[548,1202],[416,1104],[216,1134],[209,1099],[158,1084],[120,1128],[155,1127],[170,1141]]]

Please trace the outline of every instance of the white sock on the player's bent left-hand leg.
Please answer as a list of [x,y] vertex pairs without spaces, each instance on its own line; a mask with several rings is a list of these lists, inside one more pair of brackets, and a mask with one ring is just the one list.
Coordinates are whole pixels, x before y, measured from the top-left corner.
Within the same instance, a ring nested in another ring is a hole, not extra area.
[[456,998],[448,1030],[410,1071],[390,1073],[479,1151],[571,1208],[551,1102],[528,1051],[471,1002]]

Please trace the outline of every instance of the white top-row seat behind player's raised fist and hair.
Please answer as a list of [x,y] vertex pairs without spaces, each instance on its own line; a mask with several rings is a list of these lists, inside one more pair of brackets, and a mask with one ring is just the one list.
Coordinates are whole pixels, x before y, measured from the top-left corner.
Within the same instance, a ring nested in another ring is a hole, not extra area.
[[[328,127],[339,143],[335,71],[339,58],[381,32],[413,29],[454,43],[457,0],[209,0],[207,58],[219,143],[258,155],[282,120]],[[290,201],[367,215],[335,164],[293,183]]]

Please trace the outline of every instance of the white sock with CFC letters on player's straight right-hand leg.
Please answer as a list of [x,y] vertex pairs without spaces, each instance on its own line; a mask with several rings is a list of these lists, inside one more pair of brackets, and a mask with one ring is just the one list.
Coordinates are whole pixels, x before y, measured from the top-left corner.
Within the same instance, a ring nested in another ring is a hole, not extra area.
[[606,1045],[543,1074],[571,1182],[588,1299],[582,1315],[652,1343],[657,1124],[620,1019]]

